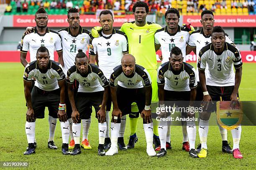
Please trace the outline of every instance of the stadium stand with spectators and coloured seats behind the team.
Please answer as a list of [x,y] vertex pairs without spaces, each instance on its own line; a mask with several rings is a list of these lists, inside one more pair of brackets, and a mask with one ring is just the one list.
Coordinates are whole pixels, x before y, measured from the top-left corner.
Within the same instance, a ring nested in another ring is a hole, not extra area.
[[[94,14],[97,9],[125,10],[131,13],[137,0],[12,0],[12,10],[5,15],[33,15],[38,7],[46,8],[50,15],[66,14],[67,8],[77,7],[81,14]],[[182,15],[200,15],[212,10],[215,15],[255,15],[256,0],[144,0],[150,13],[164,13],[170,7]],[[26,5],[28,3],[28,5]],[[25,8],[24,8],[25,6]],[[21,10],[22,8],[22,10]],[[10,9],[10,7],[9,7]],[[9,10],[8,9],[8,10]]]

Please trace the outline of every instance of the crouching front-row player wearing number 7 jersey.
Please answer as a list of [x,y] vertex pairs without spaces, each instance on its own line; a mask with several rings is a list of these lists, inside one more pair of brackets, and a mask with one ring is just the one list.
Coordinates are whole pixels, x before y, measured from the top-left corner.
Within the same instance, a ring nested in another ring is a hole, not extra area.
[[[160,107],[165,107],[165,105],[172,107],[174,103],[177,107],[191,108],[194,105],[197,87],[196,70],[194,67],[192,67],[192,65],[189,65],[188,63],[182,61],[182,51],[179,49],[179,47],[173,47],[169,57],[169,62],[165,62],[158,68],[157,83]],[[189,103],[185,101],[189,101]],[[184,116],[187,117],[187,114],[185,112],[182,112],[182,117]],[[163,117],[166,117],[166,115],[164,115]],[[167,154],[167,129],[167,122],[161,121],[158,128],[159,138],[161,142],[161,150],[159,151],[159,153],[157,153],[158,157],[162,157]],[[195,121],[187,122],[187,133],[190,144],[189,155],[196,158],[197,153],[195,151]]]

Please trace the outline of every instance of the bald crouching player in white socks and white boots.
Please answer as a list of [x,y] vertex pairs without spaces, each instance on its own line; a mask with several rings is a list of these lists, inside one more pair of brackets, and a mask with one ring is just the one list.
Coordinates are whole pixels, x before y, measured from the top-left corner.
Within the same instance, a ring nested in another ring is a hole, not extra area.
[[[143,87],[144,86],[144,87]],[[131,104],[136,102],[143,118],[149,156],[155,156],[153,148],[153,123],[151,119],[151,79],[145,68],[135,64],[131,54],[122,57],[121,65],[114,68],[110,75],[110,91],[113,102],[112,120],[110,125],[111,147],[106,155],[118,153],[117,140],[121,117],[131,113]]]

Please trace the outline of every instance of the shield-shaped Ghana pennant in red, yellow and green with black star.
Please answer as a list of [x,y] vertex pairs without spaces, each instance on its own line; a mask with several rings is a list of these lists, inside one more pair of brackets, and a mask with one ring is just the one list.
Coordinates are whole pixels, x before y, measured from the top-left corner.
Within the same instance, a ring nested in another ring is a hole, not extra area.
[[[239,101],[238,101],[239,102]],[[221,127],[232,130],[241,124],[243,118],[242,102],[236,104],[234,109],[229,107],[231,101],[218,101],[217,105],[217,121]]]

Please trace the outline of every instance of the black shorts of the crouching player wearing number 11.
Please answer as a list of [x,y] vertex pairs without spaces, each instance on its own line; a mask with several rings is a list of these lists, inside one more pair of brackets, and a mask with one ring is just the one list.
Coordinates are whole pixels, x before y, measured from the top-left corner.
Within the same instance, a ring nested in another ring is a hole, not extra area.
[[32,108],[35,117],[44,118],[45,107],[48,107],[49,116],[58,118],[60,90],[45,91],[34,86],[31,92]]

